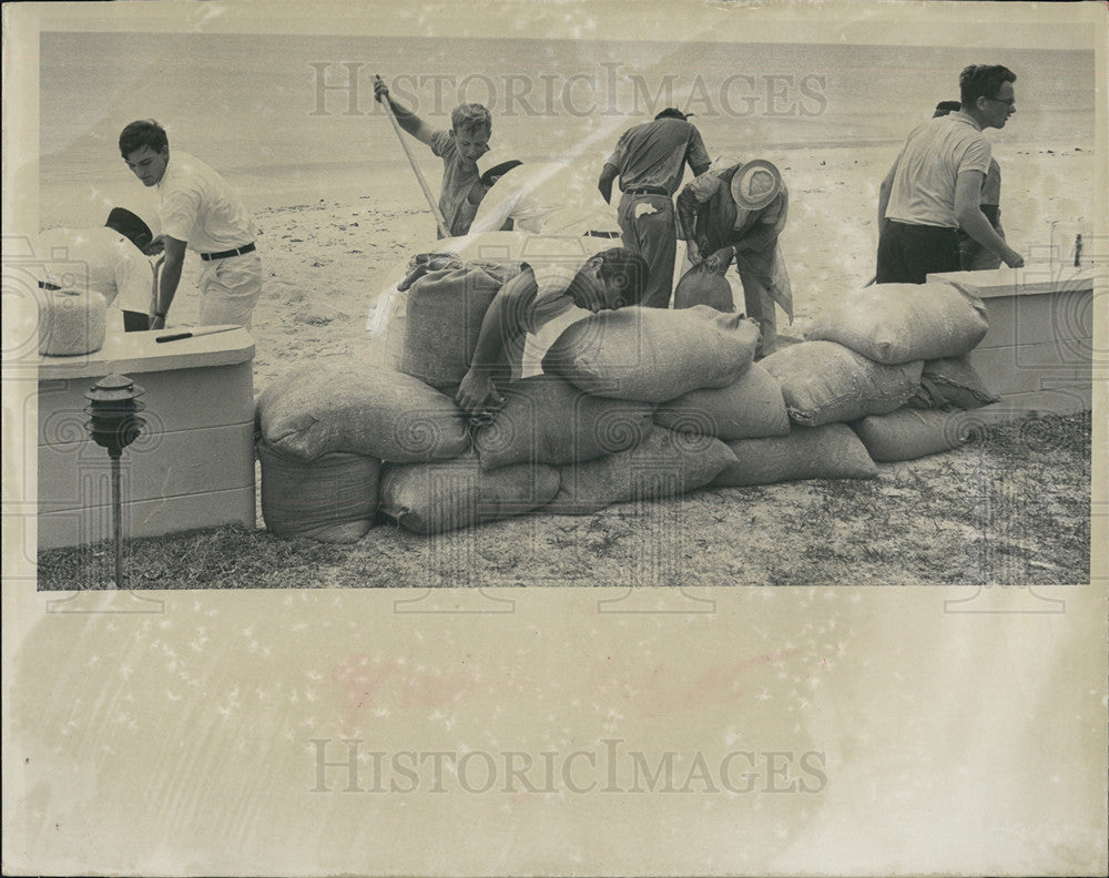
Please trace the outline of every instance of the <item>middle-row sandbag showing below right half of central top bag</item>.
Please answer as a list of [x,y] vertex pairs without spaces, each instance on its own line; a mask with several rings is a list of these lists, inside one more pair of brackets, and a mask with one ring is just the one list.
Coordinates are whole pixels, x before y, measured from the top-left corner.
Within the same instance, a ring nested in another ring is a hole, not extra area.
[[790,432],[782,386],[759,363],[751,364],[728,387],[691,390],[662,404],[654,412],[654,422],[725,442]]

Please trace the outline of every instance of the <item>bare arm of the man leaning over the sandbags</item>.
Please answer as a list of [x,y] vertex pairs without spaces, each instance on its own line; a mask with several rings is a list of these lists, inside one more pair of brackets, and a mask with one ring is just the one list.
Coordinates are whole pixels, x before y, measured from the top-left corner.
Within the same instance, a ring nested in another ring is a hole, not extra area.
[[494,406],[503,402],[494,389],[492,371],[506,359],[507,348],[527,335],[525,315],[537,290],[536,276],[529,267],[501,286],[490,303],[481,318],[470,368],[455,394],[455,401],[466,412],[476,415],[485,410],[490,397]]

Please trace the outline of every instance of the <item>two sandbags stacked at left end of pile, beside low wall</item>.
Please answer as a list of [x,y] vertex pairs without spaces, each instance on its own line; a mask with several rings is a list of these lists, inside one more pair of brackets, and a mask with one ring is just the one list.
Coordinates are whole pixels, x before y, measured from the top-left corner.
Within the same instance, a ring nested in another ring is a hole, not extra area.
[[258,396],[262,518],[278,534],[355,542],[373,525],[383,461],[449,460],[468,447],[454,401],[380,368],[296,366]]

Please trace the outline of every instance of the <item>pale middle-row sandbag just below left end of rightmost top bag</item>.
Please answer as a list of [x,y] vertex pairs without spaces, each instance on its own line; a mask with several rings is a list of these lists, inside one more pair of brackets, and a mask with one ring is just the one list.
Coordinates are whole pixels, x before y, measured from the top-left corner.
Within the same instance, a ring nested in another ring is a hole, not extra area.
[[782,384],[790,419],[805,427],[853,421],[901,408],[920,385],[924,364],[885,366],[835,341],[802,341],[762,360]]

